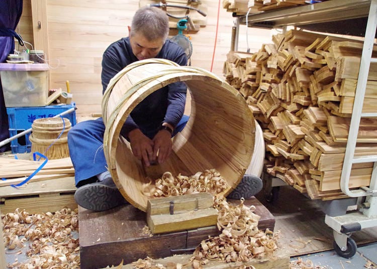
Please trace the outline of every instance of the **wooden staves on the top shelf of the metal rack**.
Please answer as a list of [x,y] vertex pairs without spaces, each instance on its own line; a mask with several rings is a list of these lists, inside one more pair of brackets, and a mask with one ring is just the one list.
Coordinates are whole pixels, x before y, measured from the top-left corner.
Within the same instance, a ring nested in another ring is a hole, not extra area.
[[[327,0],[322,0],[327,1]],[[308,5],[305,0],[223,0],[223,8],[237,15]]]

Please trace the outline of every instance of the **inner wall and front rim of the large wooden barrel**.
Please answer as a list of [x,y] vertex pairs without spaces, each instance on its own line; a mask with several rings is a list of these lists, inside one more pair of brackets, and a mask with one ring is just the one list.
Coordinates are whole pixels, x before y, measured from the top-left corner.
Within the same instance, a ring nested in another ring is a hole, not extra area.
[[[124,79],[127,79],[124,76]],[[124,91],[123,77],[114,86],[115,95]],[[156,179],[169,171],[174,176],[191,176],[207,169],[218,170],[229,184],[230,193],[249,166],[255,140],[255,122],[244,98],[229,84],[205,75],[180,75],[145,85],[123,104],[112,126],[109,170],[123,196],[145,211],[148,197],[142,194],[148,177]],[[145,168],[132,152],[130,144],[119,138],[120,128],[129,112],[148,94],[162,86],[184,81],[192,96],[191,114],[185,128],[173,138],[173,152],[163,164]],[[113,93],[112,93],[113,94]],[[109,109],[109,108],[108,108]]]

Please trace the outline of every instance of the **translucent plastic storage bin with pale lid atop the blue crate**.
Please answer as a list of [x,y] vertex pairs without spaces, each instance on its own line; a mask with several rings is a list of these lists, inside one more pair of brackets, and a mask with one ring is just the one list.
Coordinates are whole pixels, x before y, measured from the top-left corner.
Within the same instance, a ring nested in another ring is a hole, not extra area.
[[45,106],[48,68],[47,64],[0,63],[5,106]]

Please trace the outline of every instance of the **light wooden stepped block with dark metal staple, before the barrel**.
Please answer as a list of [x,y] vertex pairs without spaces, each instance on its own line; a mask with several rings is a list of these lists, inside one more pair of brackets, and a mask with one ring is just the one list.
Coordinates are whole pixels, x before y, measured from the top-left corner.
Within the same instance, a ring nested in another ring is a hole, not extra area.
[[210,193],[149,199],[147,223],[152,233],[216,225],[218,211]]

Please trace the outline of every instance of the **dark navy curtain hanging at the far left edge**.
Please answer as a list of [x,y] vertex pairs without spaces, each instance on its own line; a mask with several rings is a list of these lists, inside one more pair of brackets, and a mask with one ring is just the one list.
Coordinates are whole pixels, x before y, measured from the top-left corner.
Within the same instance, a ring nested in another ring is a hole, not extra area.
[[[0,1],[0,63],[5,62],[8,54],[13,53],[15,49],[14,30],[21,18],[22,2],[22,0]],[[9,138],[9,122],[0,77],[0,141],[7,138]],[[9,144],[0,148],[0,152],[8,150],[10,150]]]

